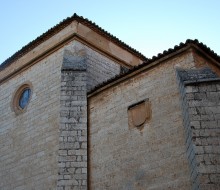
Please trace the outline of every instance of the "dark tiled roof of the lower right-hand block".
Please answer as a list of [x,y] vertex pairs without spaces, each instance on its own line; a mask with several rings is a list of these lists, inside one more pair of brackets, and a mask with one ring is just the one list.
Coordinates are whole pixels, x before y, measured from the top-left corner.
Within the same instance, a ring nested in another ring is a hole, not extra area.
[[143,64],[135,66],[132,69],[128,70],[127,72],[116,75],[115,77],[95,86],[87,94],[89,96],[92,96],[93,94],[96,94],[99,91],[102,91],[102,88],[108,88],[108,86],[111,86],[111,84],[113,84],[113,83],[117,83],[117,82],[125,80],[125,78],[128,75],[130,75],[130,74],[132,75],[136,71],[141,70],[142,68],[150,65],[151,63],[159,61],[160,59],[163,59],[167,56],[168,57],[172,56],[172,54],[176,54],[181,49],[188,49],[190,47],[194,47],[196,49],[199,49],[200,51],[205,52],[208,56],[210,56],[216,62],[218,62],[219,67],[220,67],[220,56],[218,54],[216,54],[213,50],[211,50],[205,44],[199,42],[197,39],[195,39],[195,40],[188,39],[188,40],[186,40],[185,43],[181,42],[179,45],[174,46],[174,48],[170,48],[168,50],[163,51],[163,53],[159,53],[157,56],[153,56],[151,59],[148,59],[147,61],[143,62]]

